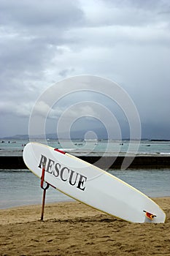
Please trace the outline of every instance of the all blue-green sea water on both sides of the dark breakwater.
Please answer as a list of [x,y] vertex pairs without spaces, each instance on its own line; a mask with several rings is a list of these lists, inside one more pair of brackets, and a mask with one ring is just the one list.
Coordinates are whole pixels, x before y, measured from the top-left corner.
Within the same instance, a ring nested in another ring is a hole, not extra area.
[[[28,140],[3,140],[0,142],[0,156],[20,156]],[[38,140],[38,142],[42,142]],[[134,151],[136,142],[134,141]],[[70,154],[98,155],[104,153],[108,155],[125,155],[128,151],[129,141],[109,141],[107,140],[47,140],[49,146],[61,148]],[[133,146],[129,154],[134,154]],[[144,140],[139,145],[136,152],[139,155],[169,155],[170,141],[150,141]],[[149,169],[149,170],[108,170],[117,178],[131,184],[136,189],[144,192],[150,197],[170,196],[170,168]],[[40,180],[29,170],[0,170],[0,208],[11,208],[14,206],[25,206],[42,203],[42,189]],[[56,189],[47,189],[46,203],[69,201],[72,198],[63,195]]]

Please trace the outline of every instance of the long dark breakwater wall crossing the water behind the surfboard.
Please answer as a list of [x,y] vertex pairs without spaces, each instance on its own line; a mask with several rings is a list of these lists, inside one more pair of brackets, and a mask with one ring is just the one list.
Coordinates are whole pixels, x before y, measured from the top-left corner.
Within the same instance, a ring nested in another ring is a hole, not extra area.
[[[96,165],[101,168],[120,169],[125,159],[125,163],[131,162],[131,157],[96,157],[96,156],[81,156],[80,159]],[[134,158],[134,157],[133,157]],[[169,156],[136,156],[128,168],[148,169],[148,168],[169,168]],[[1,156],[0,169],[27,169],[23,162],[23,157]]]

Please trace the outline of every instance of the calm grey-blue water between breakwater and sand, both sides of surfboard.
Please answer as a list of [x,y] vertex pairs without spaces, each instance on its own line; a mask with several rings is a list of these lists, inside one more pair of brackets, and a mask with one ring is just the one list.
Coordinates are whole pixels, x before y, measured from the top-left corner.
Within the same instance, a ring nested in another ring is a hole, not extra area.
[[[170,196],[170,169],[109,170],[109,173],[131,184],[150,197]],[[0,208],[42,203],[40,180],[29,170],[0,170]],[[69,201],[72,198],[50,187],[46,203]]]

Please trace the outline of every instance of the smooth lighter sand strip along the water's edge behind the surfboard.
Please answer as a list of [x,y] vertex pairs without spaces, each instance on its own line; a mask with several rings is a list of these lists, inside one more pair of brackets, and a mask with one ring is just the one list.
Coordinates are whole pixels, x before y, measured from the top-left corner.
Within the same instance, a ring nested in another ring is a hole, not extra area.
[[[151,198],[151,197],[150,197]],[[155,203],[158,203],[161,208],[164,207],[165,210],[170,208],[169,202],[170,197],[152,197],[151,198]],[[74,209],[75,208],[75,209]],[[53,216],[51,215],[51,211],[54,209],[58,209],[58,211],[53,212]],[[61,211],[62,209],[62,211]],[[68,211],[73,211],[72,214]],[[68,210],[68,211],[67,211]],[[82,211],[83,210],[83,211]],[[41,204],[33,204],[33,205],[25,205],[25,206],[13,206],[11,208],[4,208],[0,209],[0,225],[6,225],[11,223],[18,223],[18,222],[28,222],[30,221],[36,221],[40,219],[40,214],[42,211],[42,205]],[[17,214],[19,213],[19,214]],[[17,218],[15,218],[15,214],[17,214]],[[72,217],[86,217],[90,216],[96,216],[96,215],[104,215],[107,217],[112,217],[115,219],[118,219],[117,217],[111,216],[109,214],[105,214],[102,211],[97,210],[96,208],[90,207],[84,203],[81,203],[77,200],[72,201],[61,201],[56,203],[45,203],[45,214],[44,214],[44,220],[47,221],[49,218],[63,218],[63,216],[67,218]],[[28,216],[27,216],[28,215]],[[31,216],[33,215],[33,216]],[[14,217],[14,218],[13,218]],[[64,217],[64,218],[65,218]],[[26,219],[25,219],[26,218]],[[122,220],[123,222],[126,222]],[[130,222],[129,222],[130,223]]]

